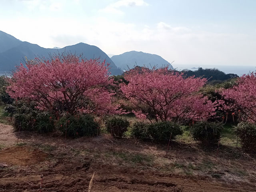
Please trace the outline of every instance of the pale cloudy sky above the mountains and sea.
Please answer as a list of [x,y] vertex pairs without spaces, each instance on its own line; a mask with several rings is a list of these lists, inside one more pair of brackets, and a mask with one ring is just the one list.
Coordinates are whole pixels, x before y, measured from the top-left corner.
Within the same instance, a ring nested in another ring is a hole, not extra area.
[[256,0],[0,0],[0,30],[44,48],[84,42],[178,66],[256,66]]

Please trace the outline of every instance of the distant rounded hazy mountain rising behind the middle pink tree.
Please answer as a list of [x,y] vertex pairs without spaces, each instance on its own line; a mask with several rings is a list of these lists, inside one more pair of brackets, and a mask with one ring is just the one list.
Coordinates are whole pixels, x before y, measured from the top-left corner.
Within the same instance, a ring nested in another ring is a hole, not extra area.
[[116,66],[118,66],[118,68],[121,68],[122,70],[134,68],[134,66],[162,67],[168,64],[169,68],[173,69],[172,65],[159,55],[138,51],[130,51],[120,55],[115,55],[111,57],[111,60],[116,64]]

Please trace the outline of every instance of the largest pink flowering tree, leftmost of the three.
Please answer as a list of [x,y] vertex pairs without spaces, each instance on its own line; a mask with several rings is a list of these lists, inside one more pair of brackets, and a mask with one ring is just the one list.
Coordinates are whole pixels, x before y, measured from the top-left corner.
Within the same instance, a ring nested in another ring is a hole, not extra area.
[[12,98],[33,101],[51,112],[115,114],[108,66],[97,59],[83,60],[72,54],[50,60],[35,58],[17,67],[10,79]]

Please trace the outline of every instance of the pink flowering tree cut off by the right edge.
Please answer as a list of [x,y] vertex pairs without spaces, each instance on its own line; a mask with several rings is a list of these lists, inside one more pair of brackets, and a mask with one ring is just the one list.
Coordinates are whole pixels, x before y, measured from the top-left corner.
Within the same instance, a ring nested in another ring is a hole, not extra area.
[[[237,85],[223,90],[225,99],[231,100],[226,104],[226,110],[233,110],[236,115],[244,120],[256,122],[256,73],[243,75],[237,80]],[[242,114],[240,114],[240,112]]]

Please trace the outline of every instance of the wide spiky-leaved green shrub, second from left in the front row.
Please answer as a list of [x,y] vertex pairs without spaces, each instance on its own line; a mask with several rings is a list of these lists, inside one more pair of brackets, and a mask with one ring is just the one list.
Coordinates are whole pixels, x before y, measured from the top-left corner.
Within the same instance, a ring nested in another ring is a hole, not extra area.
[[67,136],[69,137],[94,137],[100,131],[99,124],[88,114],[79,114],[76,116],[64,114],[57,122],[57,127],[62,134],[66,134],[67,129]]

